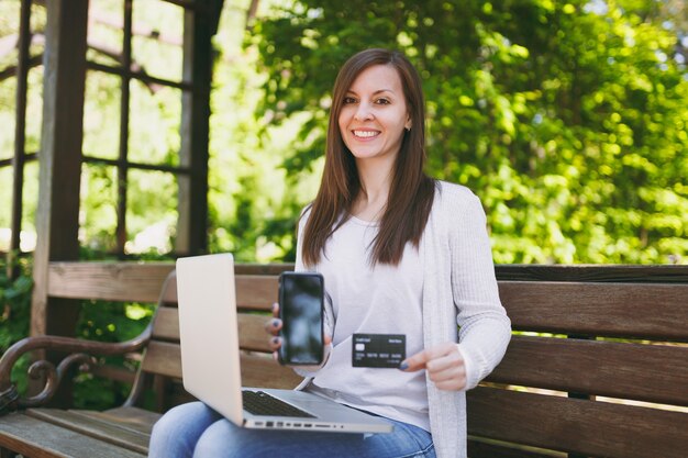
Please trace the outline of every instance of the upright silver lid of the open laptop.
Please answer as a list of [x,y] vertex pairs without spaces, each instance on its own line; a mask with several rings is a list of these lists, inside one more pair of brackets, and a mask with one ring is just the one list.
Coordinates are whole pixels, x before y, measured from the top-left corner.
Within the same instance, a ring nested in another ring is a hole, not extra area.
[[233,256],[177,259],[177,297],[184,388],[243,424]]

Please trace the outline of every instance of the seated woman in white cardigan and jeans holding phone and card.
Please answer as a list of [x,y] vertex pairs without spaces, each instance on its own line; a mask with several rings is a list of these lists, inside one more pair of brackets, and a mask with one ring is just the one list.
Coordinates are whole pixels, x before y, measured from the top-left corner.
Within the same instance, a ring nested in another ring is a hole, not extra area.
[[[325,362],[297,370],[298,389],[384,416],[395,432],[247,431],[193,403],[155,426],[151,456],[466,456],[465,391],[501,360],[511,329],[480,202],[424,175],[424,123],[420,78],[402,54],[349,58],[297,245],[296,269],[321,272],[329,299]],[[276,319],[268,331],[280,327]],[[410,357],[399,370],[353,368],[354,333],[404,334]]]

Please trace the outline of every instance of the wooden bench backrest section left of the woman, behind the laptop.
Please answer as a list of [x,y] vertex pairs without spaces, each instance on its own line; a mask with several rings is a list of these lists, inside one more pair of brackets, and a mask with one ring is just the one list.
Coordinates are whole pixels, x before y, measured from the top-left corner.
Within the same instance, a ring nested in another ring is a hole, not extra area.
[[[244,386],[293,388],[301,380],[291,369],[271,359],[264,331],[270,306],[277,300],[279,273],[292,268],[288,264],[235,266]],[[56,298],[157,302],[152,337],[136,383],[142,383],[143,388],[152,379],[155,410],[160,412],[192,400],[181,386],[177,283],[173,264],[51,262],[48,286],[48,294]],[[208,356],[211,361],[220,357],[222,355]],[[112,367],[97,372],[132,381],[131,373]],[[141,404],[144,402],[138,390],[134,390],[127,402]],[[146,399],[149,406],[149,396]]]

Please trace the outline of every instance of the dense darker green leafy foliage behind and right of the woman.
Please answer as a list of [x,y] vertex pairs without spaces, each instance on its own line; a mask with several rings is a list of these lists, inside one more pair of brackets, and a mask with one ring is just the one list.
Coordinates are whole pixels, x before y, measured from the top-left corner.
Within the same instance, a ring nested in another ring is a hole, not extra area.
[[498,262],[686,262],[688,74],[657,5],[292,1],[248,42],[268,74],[257,115],[306,119],[296,182],[341,64],[400,48],[423,78],[429,172],[479,194]]

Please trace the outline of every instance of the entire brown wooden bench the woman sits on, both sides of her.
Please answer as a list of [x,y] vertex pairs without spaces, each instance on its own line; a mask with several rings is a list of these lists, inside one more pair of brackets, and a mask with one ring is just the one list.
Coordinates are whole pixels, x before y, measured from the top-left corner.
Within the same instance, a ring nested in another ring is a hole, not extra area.
[[[276,299],[277,275],[288,269],[237,266],[245,384],[285,388],[298,382],[267,355],[263,331]],[[49,291],[63,298],[154,302],[170,270],[169,265],[60,262],[51,267]],[[497,272],[515,335],[502,364],[468,393],[469,457],[687,456],[688,268],[498,266]],[[135,406],[146,379],[156,387],[159,412],[190,399],[179,384],[175,302],[171,276],[146,332],[107,347],[145,351],[125,405],[93,412],[29,403],[29,409],[0,417],[0,447],[27,457],[145,456],[159,416]],[[15,348],[44,344],[106,351],[102,344],[46,339],[24,340]],[[7,367],[15,358],[11,351],[0,362],[4,399]],[[85,357],[73,358],[79,362]],[[2,458],[11,456],[7,450]]]

